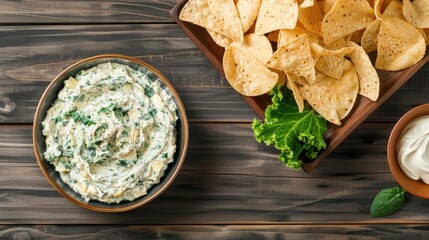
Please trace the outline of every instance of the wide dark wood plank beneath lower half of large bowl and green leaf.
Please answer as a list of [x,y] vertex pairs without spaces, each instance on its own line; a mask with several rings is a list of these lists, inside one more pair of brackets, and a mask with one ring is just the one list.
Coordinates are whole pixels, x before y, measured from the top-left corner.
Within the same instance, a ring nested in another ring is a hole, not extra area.
[[47,183],[30,126],[3,125],[0,224],[428,223],[428,202],[411,196],[391,217],[368,215],[374,195],[396,185],[385,156],[391,127],[362,125],[307,175],[284,167],[248,124],[191,124],[187,158],[172,186],[145,207],[106,217],[73,205]]

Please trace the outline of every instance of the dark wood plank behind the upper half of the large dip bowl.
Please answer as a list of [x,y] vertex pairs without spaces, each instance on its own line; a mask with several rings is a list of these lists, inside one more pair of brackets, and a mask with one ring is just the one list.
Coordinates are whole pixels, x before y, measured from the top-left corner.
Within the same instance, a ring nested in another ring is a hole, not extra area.
[[[14,26],[0,29],[0,122],[31,123],[48,82],[68,65],[102,53],[149,62],[178,88],[191,121],[250,122],[256,116],[175,25]],[[429,64],[368,122],[393,122],[429,102]]]

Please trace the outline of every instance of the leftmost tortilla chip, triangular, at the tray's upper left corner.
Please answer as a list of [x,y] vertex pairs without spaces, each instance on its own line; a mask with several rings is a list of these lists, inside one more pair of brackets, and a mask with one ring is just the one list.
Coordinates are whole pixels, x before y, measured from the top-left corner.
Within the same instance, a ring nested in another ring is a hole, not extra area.
[[226,35],[226,32],[216,24],[213,15],[210,13],[209,0],[189,0],[180,12],[179,18],[182,21]]

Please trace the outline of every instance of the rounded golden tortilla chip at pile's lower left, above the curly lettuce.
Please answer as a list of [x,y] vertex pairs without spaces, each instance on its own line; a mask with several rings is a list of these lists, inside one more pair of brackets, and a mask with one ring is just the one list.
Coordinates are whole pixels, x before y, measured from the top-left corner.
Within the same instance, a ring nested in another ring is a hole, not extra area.
[[228,46],[223,56],[223,69],[229,84],[245,96],[258,96],[270,91],[278,75],[261,61],[234,46]]

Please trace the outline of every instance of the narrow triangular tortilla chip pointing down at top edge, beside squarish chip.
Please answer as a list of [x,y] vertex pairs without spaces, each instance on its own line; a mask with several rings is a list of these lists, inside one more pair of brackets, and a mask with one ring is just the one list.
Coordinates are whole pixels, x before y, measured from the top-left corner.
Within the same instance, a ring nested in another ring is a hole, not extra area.
[[243,32],[247,32],[258,17],[261,0],[235,0]]

